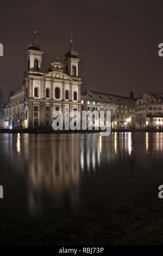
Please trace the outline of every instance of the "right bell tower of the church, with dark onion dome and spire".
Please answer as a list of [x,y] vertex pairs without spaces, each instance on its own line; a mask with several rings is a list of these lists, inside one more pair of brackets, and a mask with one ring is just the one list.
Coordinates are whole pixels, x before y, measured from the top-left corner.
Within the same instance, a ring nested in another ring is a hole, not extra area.
[[65,72],[69,76],[78,77],[78,62],[80,59],[78,58],[78,52],[72,48],[72,39],[73,33],[71,33],[71,47],[68,52],[65,53],[66,59],[64,60]]

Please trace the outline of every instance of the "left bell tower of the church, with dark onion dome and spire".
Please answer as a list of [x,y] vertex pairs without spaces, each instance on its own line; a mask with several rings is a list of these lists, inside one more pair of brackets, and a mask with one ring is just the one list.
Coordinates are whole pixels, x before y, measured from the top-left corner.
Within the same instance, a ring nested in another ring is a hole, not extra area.
[[32,43],[28,45],[27,54],[27,72],[41,72],[41,62],[43,52],[41,51],[42,45],[37,43],[36,39],[36,31],[34,31],[34,38]]

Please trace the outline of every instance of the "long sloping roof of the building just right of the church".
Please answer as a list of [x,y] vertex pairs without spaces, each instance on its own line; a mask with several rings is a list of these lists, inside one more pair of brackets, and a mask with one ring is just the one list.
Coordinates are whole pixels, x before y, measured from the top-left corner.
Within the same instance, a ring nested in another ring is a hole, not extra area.
[[112,102],[117,104],[134,105],[135,100],[130,97],[118,96],[110,93],[85,91],[82,93],[82,99],[97,100],[99,102]]

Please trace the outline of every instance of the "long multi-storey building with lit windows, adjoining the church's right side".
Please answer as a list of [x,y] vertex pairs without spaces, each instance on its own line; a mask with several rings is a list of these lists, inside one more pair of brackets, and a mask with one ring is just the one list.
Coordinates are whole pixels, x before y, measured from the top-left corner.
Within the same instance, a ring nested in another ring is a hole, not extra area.
[[135,100],[131,91],[130,97],[117,96],[110,93],[85,91],[81,96],[82,109],[91,111],[110,110],[116,118],[113,128],[129,128],[135,123]]

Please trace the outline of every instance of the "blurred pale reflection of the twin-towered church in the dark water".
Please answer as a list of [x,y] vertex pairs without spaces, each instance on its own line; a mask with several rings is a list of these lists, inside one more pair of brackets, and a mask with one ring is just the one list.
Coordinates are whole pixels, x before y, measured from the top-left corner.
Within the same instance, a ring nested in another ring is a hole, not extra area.
[[29,141],[28,198],[32,212],[42,209],[42,195],[55,205],[78,204],[80,145],[78,135],[33,136]]

